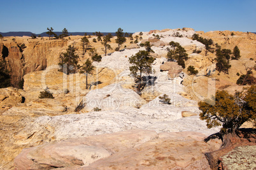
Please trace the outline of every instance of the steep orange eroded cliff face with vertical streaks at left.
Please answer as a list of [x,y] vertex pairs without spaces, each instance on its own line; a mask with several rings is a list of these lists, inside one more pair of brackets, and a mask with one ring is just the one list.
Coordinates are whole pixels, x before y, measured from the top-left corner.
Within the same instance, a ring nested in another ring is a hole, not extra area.
[[[26,46],[22,48],[24,43]],[[22,77],[33,71],[58,64],[59,53],[68,45],[67,40],[7,38],[0,42],[1,58],[6,60],[11,74],[11,85],[18,87]]]

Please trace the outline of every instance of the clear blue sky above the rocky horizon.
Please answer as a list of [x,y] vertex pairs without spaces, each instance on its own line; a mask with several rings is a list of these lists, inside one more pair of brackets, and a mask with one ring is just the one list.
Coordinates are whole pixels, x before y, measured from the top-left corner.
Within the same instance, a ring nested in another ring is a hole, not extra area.
[[0,0],[0,32],[124,32],[191,27],[256,32],[256,0]]

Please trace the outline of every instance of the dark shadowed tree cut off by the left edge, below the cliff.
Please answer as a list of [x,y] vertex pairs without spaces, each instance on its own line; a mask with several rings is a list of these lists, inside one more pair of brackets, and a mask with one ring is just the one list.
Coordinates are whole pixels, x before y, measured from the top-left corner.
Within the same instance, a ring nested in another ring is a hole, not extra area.
[[0,60],[0,89],[11,86],[10,74],[8,69],[6,69],[6,61]]

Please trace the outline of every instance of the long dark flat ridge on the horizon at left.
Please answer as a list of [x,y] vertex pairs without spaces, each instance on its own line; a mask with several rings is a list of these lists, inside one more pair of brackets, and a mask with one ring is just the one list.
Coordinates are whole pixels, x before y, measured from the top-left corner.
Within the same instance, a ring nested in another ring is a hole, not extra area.
[[[54,32],[55,34],[57,34],[58,36],[60,34],[62,34],[62,32]],[[93,32],[69,32],[69,36],[84,36],[85,33],[87,33],[87,35],[92,35]],[[115,36],[115,32],[101,32],[104,36],[106,36],[108,33],[111,33],[113,36]],[[133,34],[134,32],[127,32],[128,34]],[[11,31],[11,32],[0,32],[0,34],[2,36],[31,36],[32,32],[29,31]],[[46,32],[42,32],[41,34],[35,34],[36,36],[49,36],[48,34],[46,34]]]

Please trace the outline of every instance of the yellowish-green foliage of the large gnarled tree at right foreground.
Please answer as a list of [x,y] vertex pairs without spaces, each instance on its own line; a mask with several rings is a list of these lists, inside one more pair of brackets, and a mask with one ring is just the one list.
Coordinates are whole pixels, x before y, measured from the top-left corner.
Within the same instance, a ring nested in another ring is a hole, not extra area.
[[234,96],[222,90],[217,91],[215,104],[199,102],[201,120],[206,120],[207,127],[222,125],[222,134],[234,132],[243,123],[256,120],[256,86],[246,91],[236,92]]

